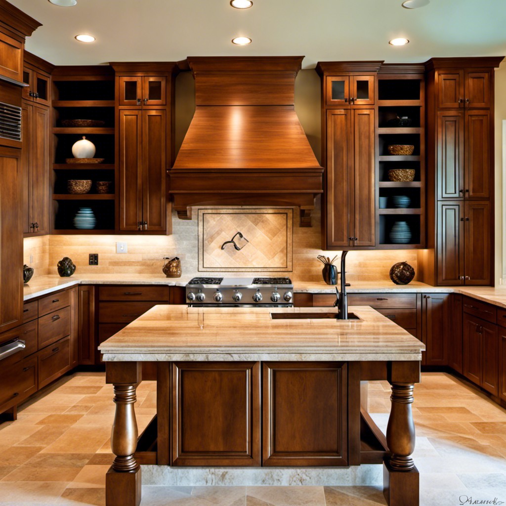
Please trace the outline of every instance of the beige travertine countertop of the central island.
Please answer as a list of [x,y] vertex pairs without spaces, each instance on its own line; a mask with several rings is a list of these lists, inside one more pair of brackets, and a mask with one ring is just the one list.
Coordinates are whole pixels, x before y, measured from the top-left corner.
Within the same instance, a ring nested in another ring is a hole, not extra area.
[[[335,308],[154,306],[103,342],[105,361],[420,360],[425,345],[367,306],[359,320],[313,318]],[[274,314],[302,319],[275,319]]]

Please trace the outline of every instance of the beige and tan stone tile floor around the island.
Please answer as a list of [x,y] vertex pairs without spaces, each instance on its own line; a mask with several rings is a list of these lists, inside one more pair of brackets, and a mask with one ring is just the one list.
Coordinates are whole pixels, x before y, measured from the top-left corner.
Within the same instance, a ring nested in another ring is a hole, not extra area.
[[[112,387],[102,373],[65,376],[0,425],[0,506],[105,504],[112,454]],[[369,383],[369,411],[385,429],[386,382]],[[506,503],[506,410],[473,386],[424,373],[413,415],[420,506]],[[155,412],[153,382],[137,391],[142,430]],[[495,502],[494,501],[495,498]],[[375,487],[143,487],[142,506],[373,506]],[[408,506],[408,505],[406,505]]]

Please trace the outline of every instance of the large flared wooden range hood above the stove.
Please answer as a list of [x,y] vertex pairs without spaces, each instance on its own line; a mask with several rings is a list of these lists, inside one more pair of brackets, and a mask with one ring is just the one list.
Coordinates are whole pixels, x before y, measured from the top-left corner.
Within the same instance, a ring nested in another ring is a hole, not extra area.
[[196,108],[174,167],[174,208],[298,206],[311,226],[323,168],[294,109],[303,56],[189,57]]

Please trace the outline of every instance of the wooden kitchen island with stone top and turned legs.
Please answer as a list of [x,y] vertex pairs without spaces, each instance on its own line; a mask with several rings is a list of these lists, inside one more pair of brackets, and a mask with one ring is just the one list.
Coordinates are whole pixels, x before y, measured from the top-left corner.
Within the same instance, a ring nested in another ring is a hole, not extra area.
[[[323,468],[383,464],[392,506],[418,504],[413,387],[425,345],[369,307],[155,306],[102,343],[116,415],[106,503],[138,505],[140,463]],[[157,416],[138,441],[143,361],[158,362]],[[386,437],[361,382],[387,379]],[[330,483],[329,483],[330,484]]]

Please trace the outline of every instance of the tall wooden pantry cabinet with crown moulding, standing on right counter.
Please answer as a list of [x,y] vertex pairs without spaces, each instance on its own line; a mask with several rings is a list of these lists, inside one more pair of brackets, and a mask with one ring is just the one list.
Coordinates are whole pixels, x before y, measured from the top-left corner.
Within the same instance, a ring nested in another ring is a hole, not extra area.
[[493,284],[494,67],[433,58],[427,70],[428,250],[421,280]]

